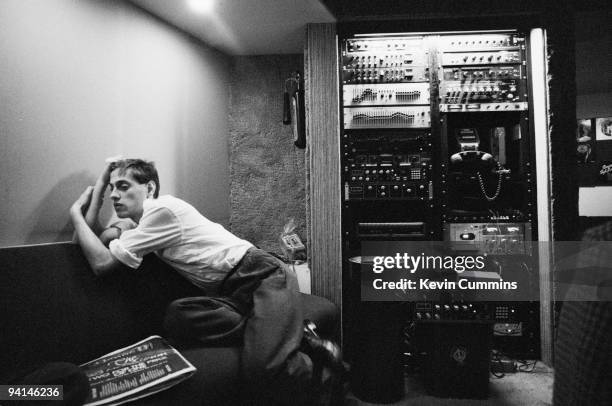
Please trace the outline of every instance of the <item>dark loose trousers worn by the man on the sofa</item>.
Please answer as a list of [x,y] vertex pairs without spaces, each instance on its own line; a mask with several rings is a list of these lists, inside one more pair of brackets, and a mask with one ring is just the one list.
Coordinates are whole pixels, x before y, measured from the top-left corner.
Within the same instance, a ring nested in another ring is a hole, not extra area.
[[179,340],[243,343],[241,370],[250,390],[283,404],[308,404],[313,364],[299,351],[303,314],[296,276],[251,248],[223,282],[219,297],[170,305],[166,329]]

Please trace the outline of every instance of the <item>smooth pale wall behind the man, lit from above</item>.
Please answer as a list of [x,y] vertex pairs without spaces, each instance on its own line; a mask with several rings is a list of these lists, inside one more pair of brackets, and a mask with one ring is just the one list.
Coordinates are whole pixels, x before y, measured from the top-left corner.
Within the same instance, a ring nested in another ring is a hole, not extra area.
[[70,239],[116,154],[227,224],[227,56],[119,0],[3,0],[0,55],[0,246]]

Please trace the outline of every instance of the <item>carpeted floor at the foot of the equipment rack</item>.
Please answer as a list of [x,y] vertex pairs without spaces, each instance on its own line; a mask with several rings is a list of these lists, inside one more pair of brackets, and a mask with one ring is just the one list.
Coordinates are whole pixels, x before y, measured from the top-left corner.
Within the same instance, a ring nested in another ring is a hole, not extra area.
[[[538,363],[534,372],[517,372],[489,380],[489,398],[443,399],[427,395],[417,379],[406,378],[404,399],[387,406],[550,406],[552,405],[553,371]],[[349,394],[345,406],[374,406]]]

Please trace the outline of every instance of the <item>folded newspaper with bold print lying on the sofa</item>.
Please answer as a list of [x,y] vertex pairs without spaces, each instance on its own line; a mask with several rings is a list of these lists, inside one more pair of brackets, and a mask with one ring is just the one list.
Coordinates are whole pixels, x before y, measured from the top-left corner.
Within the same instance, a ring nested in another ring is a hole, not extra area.
[[160,336],[151,336],[81,365],[89,378],[85,406],[119,405],[189,378],[196,368]]

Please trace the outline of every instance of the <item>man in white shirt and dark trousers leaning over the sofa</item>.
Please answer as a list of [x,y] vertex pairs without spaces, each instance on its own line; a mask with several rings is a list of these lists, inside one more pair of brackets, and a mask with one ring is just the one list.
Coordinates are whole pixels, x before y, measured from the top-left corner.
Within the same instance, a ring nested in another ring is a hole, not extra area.
[[[101,229],[98,214],[106,189],[122,221]],[[169,265],[166,270],[174,270],[198,292],[167,307],[164,335],[172,343],[179,348],[238,347],[243,390],[281,405],[312,404],[322,368],[341,373],[343,364],[339,347],[320,338],[306,320],[308,300],[299,293],[296,276],[275,256],[208,220],[189,203],[159,192],[152,162],[112,160],[95,186],[74,202],[70,218],[93,273],[138,272],[145,255],[154,253]],[[333,313],[333,305],[321,300],[315,307],[327,306]],[[50,372],[64,373],[72,371]],[[199,373],[215,371],[204,366]]]

